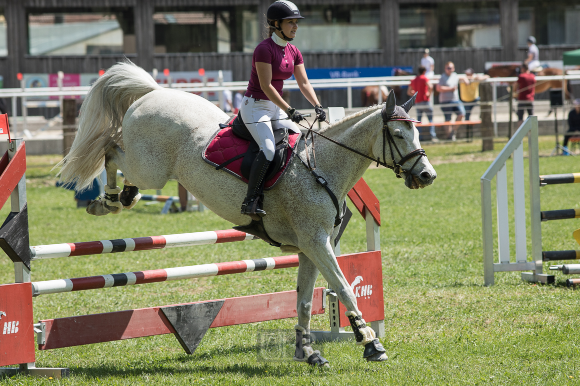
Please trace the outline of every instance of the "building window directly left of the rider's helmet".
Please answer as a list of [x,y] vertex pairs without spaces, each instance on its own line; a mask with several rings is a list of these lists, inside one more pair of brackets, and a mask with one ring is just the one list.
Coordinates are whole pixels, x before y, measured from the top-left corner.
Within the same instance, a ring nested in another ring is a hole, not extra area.
[[258,16],[251,7],[157,9],[155,52],[253,52]]

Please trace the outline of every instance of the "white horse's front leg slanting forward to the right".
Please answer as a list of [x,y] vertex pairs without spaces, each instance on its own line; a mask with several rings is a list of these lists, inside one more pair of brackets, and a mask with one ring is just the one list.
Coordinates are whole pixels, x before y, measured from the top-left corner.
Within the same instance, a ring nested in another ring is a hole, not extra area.
[[385,348],[380,344],[374,330],[367,326],[362,319],[362,312],[357,307],[357,298],[340,270],[329,236],[321,234],[306,237],[299,247],[316,265],[338,299],[345,305],[347,309],[345,314],[349,318],[350,326],[353,327],[357,345],[362,345],[365,348],[362,357],[372,362],[386,360]]

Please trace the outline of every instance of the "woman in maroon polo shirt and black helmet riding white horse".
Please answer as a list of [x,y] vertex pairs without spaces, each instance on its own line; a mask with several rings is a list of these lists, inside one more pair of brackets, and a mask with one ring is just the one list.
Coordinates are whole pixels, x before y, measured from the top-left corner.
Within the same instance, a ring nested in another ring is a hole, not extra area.
[[284,81],[294,75],[300,91],[314,105],[318,120],[326,120],[326,113],[306,76],[302,54],[289,43],[296,37],[298,19],[304,17],[300,16],[298,7],[288,0],[279,0],[270,5],[266,17],[269,37],[259,43],[253,52],[252,73],[240,109],[244,122],[258,122],[246,124],[260,145],[248,179],[248,194],[240,212],[251,217],[266,216],[262,209],[262,191],[266,171],[276,150],[273,129],[285,127],[290,132],[299,133],[295,123],[304,119],[299,111],[282,99]]

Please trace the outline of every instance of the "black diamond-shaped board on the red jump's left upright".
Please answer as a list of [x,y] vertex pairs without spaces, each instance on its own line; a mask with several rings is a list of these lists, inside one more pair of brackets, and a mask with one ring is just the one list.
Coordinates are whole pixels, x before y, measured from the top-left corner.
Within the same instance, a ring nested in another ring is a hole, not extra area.
[[10,260],[21,261],[30,270],[30,243],[28,239],[28,206],[20,212],[10,212],[0,227],[0,247]]

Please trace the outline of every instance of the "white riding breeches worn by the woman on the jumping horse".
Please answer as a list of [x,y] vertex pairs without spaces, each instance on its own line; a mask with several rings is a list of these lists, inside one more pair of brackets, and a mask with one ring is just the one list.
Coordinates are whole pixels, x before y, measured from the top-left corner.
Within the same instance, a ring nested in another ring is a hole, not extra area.
[[[274,119],[288,118],[288,115],[280,107],[269,100],[256,101],[252,97],[244,96],[242,99],[242,108],[240,109],[242,119],[246,123],[252,137],[260,145],[260,150],[264,152],[266,159],[274,159],[276,143],[274,143],[273,130],[279,128],[288,128],[290,132],[300,133],[294,122],[286,119],[284,121],[274,121]],[[258,123],[248,123],[258,122]]]

